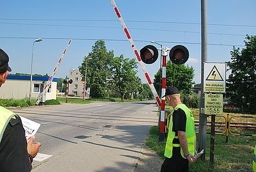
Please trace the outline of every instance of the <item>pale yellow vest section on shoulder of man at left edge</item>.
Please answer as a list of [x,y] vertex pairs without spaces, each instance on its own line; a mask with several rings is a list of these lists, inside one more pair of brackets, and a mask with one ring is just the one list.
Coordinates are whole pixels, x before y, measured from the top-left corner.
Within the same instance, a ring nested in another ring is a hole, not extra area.
[[4,130],[10,121],[10,119],[15,115],[12,111],[0,106],[0,143],[4,134]]

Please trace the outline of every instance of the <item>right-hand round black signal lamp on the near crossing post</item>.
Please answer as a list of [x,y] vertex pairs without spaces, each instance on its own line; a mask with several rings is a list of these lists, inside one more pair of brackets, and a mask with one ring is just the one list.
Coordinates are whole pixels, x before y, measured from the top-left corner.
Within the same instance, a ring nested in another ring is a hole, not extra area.
[[182,65],[188,61],[189,52],[183,45],[175,45],[170,51],[170,60],[176,65]]

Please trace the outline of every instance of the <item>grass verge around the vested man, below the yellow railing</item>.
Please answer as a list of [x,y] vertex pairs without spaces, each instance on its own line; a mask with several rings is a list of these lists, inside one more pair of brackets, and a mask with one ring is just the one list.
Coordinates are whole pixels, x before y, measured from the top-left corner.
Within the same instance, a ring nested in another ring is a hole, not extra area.
[[[255,130],[247,130],[246,132],[255,134]],[[157,126],[154,126],[150,129],[146,145],[156,151],[156,153],[164,159],[165,142],[159,142],[158,139],[159,129]],[[210,168],[210,136],[207,134],[205,161],[198,159],[195,163],[189,164],[189,171],[252,171],[253,149],[256,144],[255,140],[255,136],[228,136],[228,143],[226,143],[226,136],[215,135],[214,168]]]

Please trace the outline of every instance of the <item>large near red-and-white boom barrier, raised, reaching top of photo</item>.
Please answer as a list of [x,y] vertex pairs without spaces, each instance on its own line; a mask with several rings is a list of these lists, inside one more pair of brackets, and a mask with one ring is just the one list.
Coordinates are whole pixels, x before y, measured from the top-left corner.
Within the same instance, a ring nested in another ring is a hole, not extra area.
[[145,65],[143,64],[143,61],[141,61],[140,54],[138,53],[138,50],[136,49],[136,46],[135,46],[135,44],[134,44],[134,42],[132,40],[132,37],[131,37],[127,27],[125,26],[125,22],[124,22],[124,20],[123,20],[123,18],[121,16],[117,6],[116,6],[115,1],[114,0],[110,0],[110,1],[111,1],[111,4],[113,5],[113,8],[114,8],[115,13],[116,13],[116,16],[118,17],[118,20],[120,21],[120,23],[121,23],[121,25],[122,25],[122,27],[124,29],[124,33],[125,33],[127,39],[129,40],[129,42],[131,44],[131,47],[132,47],[132,49],[134,51],[134,54],[135,54],[136,58],[138,59],[138,61],[140,63],[140,66],[141,66],[141,68],[142,68],[142,70],[144,72],[144,75],[145,75],[146,79],[147,79],[147,82],[148,82],[148,85],[150,87],[150,90],[152,91],[152,93],[154,95],[154,98],[156,99],[157,105],[160,107],[161,106],[161,100],[160,100],[159,96],[157,95],[156,88],[154,87],[154,85],[153,85],[153,83],[152,83],[152,81],[150,79],[150,76],[148,75],[148,72],[147,72],[147,70],[145,68]]

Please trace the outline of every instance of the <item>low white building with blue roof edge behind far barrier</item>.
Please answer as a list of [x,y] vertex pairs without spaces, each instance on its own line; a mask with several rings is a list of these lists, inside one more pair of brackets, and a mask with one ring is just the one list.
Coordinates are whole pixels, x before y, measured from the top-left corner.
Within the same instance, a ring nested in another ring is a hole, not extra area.
[[[44,84],[49,77],[32,77],[31,98],[38,98],[44,90]],[[57,78],[54,78],[46,93],[46,100],[56,99]],[[0,98],[22,99],[29,97],[30,76],[8,75],[6,82],[0,88]]]

